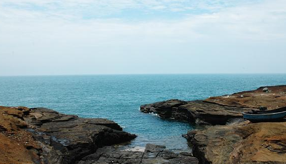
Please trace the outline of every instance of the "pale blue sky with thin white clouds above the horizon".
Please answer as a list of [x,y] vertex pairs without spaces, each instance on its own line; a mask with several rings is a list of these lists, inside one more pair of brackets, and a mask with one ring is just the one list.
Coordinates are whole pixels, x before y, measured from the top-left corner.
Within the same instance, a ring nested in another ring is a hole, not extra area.
[[0,75],[286,73],[285,0],[0,0]]

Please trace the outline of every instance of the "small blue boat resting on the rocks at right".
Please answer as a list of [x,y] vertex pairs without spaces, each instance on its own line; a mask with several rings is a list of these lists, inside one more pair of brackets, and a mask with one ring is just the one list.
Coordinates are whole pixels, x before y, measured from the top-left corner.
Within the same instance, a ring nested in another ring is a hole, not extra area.
[[286,116],[286,107],[268,110],[268,111],[255,111],[242,113],[243,118],[251,122],[265,122],[276,121],[283,119]]

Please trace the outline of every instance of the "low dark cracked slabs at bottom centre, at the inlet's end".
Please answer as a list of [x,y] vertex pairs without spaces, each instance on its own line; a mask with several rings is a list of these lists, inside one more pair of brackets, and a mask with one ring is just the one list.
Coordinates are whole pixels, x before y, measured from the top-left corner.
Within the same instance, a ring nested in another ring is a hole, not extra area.
[[191,153],[174,153],[165,146],[147,144],[145,151],[128,151],[116,149],[113,146],[99,148],[95,153],[82,158],[78,164],[155,164],[155,163],[185,163],[198,164],[197,158]]

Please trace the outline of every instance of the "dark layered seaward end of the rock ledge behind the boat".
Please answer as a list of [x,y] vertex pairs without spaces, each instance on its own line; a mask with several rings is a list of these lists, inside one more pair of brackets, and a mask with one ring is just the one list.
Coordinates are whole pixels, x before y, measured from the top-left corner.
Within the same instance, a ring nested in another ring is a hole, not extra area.
[[241,118],[241,112],[251,111],[250,108],[228,107],[207,103],[200,100],[180,101],[167,100],[164,102],[142,105],[140,111],[156,113],[162,118],[172,118],[193,123],[226,124],[233,118]]

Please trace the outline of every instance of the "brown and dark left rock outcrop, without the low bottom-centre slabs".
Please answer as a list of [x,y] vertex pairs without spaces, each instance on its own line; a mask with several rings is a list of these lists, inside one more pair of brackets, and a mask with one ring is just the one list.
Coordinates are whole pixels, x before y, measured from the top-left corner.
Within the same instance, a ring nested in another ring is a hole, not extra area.
[[46,108],[0,106],[2,164],[76,163],[102,146],[135,137],[106,119],[80,118]]

